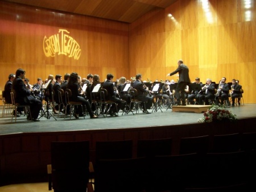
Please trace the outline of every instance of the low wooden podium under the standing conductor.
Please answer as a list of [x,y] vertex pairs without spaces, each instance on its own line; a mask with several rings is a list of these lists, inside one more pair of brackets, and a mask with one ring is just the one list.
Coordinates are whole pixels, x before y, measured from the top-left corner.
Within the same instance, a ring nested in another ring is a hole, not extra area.
[[172,112],[205,112],[211,105],[186,105],[186,106],[172,106]]

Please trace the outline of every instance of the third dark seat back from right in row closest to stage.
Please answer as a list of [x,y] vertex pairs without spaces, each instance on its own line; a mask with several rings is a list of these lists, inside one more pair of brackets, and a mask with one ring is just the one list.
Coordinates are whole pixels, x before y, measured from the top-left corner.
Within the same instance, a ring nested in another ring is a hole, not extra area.
[[182,137],[180,139],[180,154],[209,152],[209,135],[199,137]]

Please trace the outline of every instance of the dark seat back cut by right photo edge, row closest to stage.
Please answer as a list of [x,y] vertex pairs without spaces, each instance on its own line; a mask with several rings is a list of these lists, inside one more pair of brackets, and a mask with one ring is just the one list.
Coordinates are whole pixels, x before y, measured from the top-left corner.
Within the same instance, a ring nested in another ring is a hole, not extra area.
[[241,151],[256,149],[256,132],[242,133],[241,137]]

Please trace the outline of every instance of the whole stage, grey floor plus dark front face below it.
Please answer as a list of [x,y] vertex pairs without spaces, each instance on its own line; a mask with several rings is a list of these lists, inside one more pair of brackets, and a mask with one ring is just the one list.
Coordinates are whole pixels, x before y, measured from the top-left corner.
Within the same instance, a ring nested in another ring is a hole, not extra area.
[[[256,105],[228,108],[237,115],[237,122],[198,123],[203,112],[172,112],[162,108],[152,114],[127,115],[98,119],[40,118],[29,122],[25,116],[11,122],[11,116],[0,118],[0,186],[11,183],[46,182],[51,164],[52,141],[90,141],[90,160],[95,161],[96,142],[132,140],[133,157],[137,156],[137,141],[172,138],[171,154],[178,155],[181,137],[256,132]],[[2,114],[2,111],[1,111]],[[211,141],[210,141],[211,142]]]

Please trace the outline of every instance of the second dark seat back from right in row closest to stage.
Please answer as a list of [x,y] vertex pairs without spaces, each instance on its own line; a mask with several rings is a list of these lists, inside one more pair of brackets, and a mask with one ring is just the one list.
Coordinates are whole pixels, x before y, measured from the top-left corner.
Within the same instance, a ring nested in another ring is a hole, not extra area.
[[211,152],[226,153],[240,151],[240,134],[214,135]]

